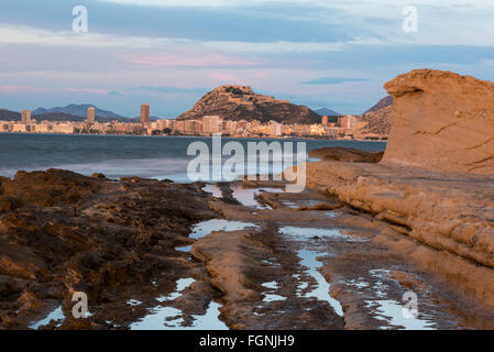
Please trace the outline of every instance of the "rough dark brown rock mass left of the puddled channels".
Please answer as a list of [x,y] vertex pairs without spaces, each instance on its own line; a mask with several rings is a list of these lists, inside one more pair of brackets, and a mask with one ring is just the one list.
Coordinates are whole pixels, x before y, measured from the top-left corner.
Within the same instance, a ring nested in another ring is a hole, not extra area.
[[[139,308],[127,300],[168,289],[188,270],[175,241],[193,222],[215,216],[195,185],[50,169],[2,178],[0,189],[2,328],[30,327],[59,306],[59,328],[114,328],[135,319]],[[89,319],[72,318],[75,292],[87,294]]]

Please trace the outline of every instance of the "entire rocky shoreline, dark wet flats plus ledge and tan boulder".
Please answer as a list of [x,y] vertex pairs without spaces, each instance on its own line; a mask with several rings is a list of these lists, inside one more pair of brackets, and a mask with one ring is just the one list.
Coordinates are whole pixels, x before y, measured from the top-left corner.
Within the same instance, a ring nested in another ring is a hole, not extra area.
[[314,151],[301,194],[0,177],[0,329],[494,329],[494,85],[417,70],[386,88],[384,155]]

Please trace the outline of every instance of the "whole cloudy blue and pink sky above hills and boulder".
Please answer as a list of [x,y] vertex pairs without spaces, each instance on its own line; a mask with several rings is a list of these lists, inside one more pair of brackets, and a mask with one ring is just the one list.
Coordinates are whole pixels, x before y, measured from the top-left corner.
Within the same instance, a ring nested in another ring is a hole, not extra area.
[[[73,28],[80,6],[85,33]],[[492,0],[2,1],[0,108],[135,117],[149,102],[175,118],[220,85],[245,85],[356,114],[416,68],[494,80],[493,16]]]

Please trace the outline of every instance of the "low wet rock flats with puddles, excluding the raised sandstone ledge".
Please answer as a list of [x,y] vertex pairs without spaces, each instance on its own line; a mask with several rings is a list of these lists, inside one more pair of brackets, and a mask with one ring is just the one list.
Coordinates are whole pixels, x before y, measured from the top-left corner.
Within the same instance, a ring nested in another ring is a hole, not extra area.
[[[2,179],[1,198],[21,205],[0,216],[2,329],[493,328],[492,310],[415,261],[430,246],[339,197],[20,176]],[[84,191],[74,201],[52,183]],[[72,316],[74,292],[88,294],[87,319]],[[408,292],[418,315],[404,319]]]

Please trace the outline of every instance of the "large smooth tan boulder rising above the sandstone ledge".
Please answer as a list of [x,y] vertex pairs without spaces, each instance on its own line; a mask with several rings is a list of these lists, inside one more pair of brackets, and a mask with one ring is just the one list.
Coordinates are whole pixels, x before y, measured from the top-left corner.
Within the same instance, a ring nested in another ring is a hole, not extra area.
[[418,69],[385,84],[394,98],[383,163],[494,174],[494,84]]

